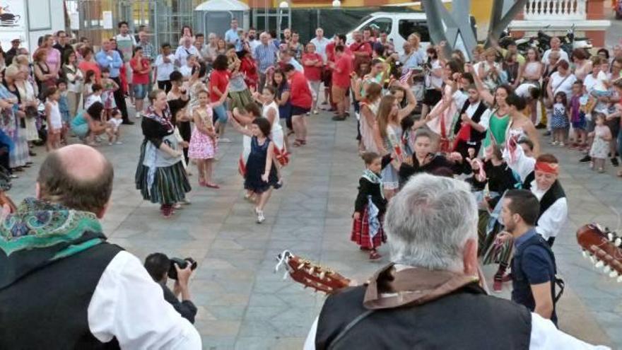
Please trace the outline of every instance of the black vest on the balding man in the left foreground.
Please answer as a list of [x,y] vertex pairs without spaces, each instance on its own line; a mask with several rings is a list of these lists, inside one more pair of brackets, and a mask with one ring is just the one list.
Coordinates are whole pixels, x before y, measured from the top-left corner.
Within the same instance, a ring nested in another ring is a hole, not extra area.
[[88,328],[88,304],[122,248],[101,243],[52,262],[0,290],[0,349],[119,349]]

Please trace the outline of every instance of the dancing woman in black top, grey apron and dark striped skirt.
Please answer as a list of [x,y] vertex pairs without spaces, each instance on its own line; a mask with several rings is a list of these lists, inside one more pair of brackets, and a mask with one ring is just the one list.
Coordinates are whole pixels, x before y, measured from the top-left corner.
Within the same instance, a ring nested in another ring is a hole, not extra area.
[[173,214],[173,206],[183,202],[190,192],[190,183],[184,170],[184,153],[175,138],[166,93],[155,90],[149,94],[151,106],[143,117],[141,127],[145,139],[136,169],[136,189],[143,199],[160,203],[165,218]]

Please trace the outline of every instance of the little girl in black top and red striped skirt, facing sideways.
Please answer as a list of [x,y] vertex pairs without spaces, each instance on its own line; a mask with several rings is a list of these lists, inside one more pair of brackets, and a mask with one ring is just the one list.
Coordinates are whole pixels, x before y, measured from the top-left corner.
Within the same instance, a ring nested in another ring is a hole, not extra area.
[[[376,251],[387,241],[382,230],[382,218],[387,209],[387,199],[382,194],[380,172],[390,161],[390,155],[382,158],[375,152],[363,153],[365,170],[358,180],[358,196],[354,202],[352,233],[350,240],[360,246],[360,250],[370,251],[370,260],[380,259]],[[371,225],[370,223],[375,223]]]

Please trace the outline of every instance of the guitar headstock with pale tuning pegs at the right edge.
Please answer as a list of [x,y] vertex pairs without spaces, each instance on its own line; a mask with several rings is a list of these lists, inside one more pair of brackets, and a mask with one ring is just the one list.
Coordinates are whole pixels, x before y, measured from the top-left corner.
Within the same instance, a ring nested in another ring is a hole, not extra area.
[[590,223],[577,230],[577,242],[583,257],[590,259],[597,269],[622,282],[622,237],[609,228]]

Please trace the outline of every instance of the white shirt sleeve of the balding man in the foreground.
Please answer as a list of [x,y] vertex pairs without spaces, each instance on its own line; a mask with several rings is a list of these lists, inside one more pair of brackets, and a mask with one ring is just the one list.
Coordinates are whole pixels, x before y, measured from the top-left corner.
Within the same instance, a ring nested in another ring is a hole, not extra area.
[[164,300],[140,260],[119,252],[104,270],[88,305],[88,327],[121,349],[201,349],[194,326]]

